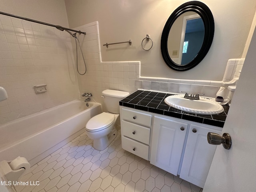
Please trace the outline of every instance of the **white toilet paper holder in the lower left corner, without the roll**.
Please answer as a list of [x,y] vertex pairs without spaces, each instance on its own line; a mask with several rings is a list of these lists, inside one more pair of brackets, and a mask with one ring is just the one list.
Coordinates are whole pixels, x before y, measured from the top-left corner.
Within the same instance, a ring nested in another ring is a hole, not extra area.
[[[11,183],[13,185],[14,181],[18,181],[20,176],[22,176],[22,174],[25,172],[25,168],[22,167],[18,170],[13,170],[10,167],[10,162],[11,161],[6,161],[6,160],[1,161],[0,162],[0,170],[2,171],[2,174],[4,175],[4,178],[8,181],[11,181]],[[29,163],[28,163],[28,166],[30,168]]]

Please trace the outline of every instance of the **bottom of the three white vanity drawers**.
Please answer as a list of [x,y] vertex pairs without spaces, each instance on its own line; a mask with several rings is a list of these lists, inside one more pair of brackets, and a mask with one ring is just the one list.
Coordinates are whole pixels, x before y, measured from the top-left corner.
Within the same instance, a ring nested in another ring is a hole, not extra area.
[[148,145],[122,136],[122,148],[128,152],[131,152],[141,158],[148,160]]

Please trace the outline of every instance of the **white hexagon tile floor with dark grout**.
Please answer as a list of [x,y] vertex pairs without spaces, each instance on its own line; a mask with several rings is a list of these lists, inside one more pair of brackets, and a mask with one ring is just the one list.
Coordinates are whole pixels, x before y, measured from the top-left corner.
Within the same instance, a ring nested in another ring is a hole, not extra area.
[[138,156],[122,149],[120,131],[103,151],[82,134],[38,162],[16,186],[17,192],[202,192]]

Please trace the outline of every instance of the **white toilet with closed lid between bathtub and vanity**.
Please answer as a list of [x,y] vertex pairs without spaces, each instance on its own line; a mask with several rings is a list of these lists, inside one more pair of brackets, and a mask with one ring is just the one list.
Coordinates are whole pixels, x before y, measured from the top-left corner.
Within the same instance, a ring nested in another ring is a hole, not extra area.
[[117,90],[104,90],[102,97],[108,112],[102,112],[92,117],[86,123],[86,134],[93,140],[96,150],[104,150],[116,138],[116,120],[119,117],[119,101],[129,95],[128,92]]

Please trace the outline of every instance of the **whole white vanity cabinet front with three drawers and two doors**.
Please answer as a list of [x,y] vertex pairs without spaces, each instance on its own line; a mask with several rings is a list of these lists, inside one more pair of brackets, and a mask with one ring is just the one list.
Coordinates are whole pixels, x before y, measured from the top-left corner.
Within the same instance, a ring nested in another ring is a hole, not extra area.
[[120,106],[122,148],[204,187],[216,150],[208,132],[222,128]]

